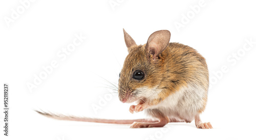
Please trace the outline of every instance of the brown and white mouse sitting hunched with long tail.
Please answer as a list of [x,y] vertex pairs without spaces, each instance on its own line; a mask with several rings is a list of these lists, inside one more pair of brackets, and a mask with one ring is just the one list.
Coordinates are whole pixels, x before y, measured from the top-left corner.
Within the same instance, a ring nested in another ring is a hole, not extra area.
[[56,115],[46,117],[95,123],[131,124],[130,128],[164,127],[170,122],[190,123],[197,128],[212,129],[200,114],[207,103],[209,72],[205,58],[194,48],[170,41],[170,32],[152,33],[145,44],[137,45],[123,29],[128,55],[118,80],[118,98],[122,103],[135,103],[130,113],[144,111],[147,119],[108,120]]

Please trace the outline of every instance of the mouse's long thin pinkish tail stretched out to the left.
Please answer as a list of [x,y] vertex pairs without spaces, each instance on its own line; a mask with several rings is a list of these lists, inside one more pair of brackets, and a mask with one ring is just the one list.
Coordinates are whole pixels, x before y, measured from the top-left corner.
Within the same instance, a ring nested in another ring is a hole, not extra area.
[[136,119],[136,120],[108,120],[108,119],[96,119],[87,117],[74,117],[66,115],[57,115],[52,113],[46,113],[44,111],[35,110],[40,115],[57,119],[57,120],[67,120],[67,121],[80,121],[80,122],[94,122],[94,123],[109,123],[109,124],[132,124],[133,122],[157,122],[153,120],[146,119]]

